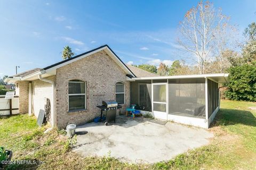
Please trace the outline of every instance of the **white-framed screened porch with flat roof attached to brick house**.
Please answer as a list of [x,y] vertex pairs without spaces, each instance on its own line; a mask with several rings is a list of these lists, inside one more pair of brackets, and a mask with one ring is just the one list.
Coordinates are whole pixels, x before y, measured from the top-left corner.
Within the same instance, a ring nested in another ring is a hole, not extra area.
[[218,83],[228,79],[205,75],[132,78],[131,104],[155,118],[209,128],[219,110]]

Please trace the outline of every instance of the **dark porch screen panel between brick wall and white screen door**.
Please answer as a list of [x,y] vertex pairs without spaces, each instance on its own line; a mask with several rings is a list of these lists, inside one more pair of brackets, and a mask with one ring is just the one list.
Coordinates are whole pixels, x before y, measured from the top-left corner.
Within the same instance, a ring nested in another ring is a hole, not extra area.
[[151,80],[131,82],[131,104],[136,109],[151,112]]

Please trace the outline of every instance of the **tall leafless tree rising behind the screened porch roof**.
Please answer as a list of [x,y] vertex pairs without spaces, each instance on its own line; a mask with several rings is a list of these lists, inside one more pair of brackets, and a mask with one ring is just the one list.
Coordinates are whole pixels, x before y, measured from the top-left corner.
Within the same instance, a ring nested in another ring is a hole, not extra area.
[[[218,47],[219,35],[225,33],[229,17],[221,9],[215,10],[209,1],[199,2],[191,8],[182,22],[178,43],[195,56],[199,73],[206,73],[207,63],[211,62]],[[219,39],[221,40],[221,39]],[[220,42],[221,45],[226,42]]]

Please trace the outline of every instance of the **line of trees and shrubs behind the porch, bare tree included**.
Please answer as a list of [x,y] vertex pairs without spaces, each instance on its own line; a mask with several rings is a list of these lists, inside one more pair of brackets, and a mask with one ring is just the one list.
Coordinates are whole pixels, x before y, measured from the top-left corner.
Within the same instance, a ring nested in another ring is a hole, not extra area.
[[[230,17],[216,10],[213,3],[199,2],[179,24],[177,43],[188,58],[175,60],[169,67],[160,63],[134,65],[158,75],[230,73],[225,96],[231,100],[256,101],[256,24],[252,22],[238,40]],[[193,64],[192,64],[193,63]]]

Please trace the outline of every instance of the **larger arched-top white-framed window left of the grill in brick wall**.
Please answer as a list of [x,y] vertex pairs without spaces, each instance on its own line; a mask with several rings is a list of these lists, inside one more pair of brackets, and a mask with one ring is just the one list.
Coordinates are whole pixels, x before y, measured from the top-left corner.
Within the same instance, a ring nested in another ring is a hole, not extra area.
[[86,83],[82,80],[68,81],[68,111],[86,109]]

